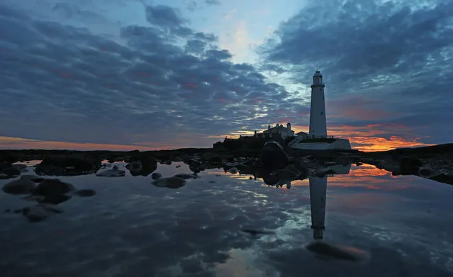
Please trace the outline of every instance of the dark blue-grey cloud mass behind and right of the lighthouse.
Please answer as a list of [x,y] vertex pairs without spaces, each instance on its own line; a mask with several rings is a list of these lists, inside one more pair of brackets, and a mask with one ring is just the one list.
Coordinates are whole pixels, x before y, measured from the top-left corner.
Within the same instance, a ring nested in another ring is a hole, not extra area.
[[262,45],[262,70],[291,66],[299,84],[319,67],[330,125],[390,121],[451,141],[452,22],[447,0],[309,4]]

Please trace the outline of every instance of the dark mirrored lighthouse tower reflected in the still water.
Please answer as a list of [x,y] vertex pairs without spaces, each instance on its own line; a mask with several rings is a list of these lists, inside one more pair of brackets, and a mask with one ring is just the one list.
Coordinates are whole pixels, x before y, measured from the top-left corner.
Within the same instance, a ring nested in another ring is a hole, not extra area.
[[313,239],[323,239],[325,230],[325,195],[328,176],[310,177],[311,229]]

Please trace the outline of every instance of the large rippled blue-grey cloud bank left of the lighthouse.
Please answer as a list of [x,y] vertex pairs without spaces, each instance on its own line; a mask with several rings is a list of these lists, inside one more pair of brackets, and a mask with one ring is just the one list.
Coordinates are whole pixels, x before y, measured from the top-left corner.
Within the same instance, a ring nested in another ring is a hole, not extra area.
[[[0,5],[0,135],[34,140],[208,147],[301,111],[283,86],[231,62],[216,36],[147,6],[151,26],[110,40]],[[185,33],[178,33],[185,30]],[[273,111],[286,111],[278,114]],[[266,115],[269,114],[269,115]]]

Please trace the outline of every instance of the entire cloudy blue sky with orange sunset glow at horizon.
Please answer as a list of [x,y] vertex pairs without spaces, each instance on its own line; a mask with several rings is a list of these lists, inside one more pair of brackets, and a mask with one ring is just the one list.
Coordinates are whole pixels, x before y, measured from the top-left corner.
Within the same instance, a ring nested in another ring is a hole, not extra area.
[[451,0],[1,0],[0,148],[211,147],[291,122],[452,142]]

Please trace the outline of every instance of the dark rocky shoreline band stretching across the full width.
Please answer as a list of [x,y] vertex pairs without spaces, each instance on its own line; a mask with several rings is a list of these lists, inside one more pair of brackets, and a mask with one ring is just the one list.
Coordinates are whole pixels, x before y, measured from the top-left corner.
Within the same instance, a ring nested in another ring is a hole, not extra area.
[[[272,144],[269,144],[272,145]],[[269,148],[269,147],[268,147]],[[267,158],[267,157],[270,157]],[[194,174],[205,169],[222,168],[254,174],[258,177],[283,175],[306,178],[328,169],[328,164],[371,164],[391,171],[393,175],[416,175],[442,183],[453,184],[453,144],[395,149],[386,152],[352,151],[299,151],[287,147],[274,149],[236,149],[228,151],[213,148],[186,148],[174,150],[131,152],[72,151],[72,150],[0,150],[0,179],[21,174],[23,165],[16,162],[41,160],[35,168],[40,176],[76,176],[94,174],[106,164],[128,163],[133,176],[148,176],[157,164],[184,162]],[[290,173],[292,171],[292,173]],[[332,173],[332,172],[330,172]],[[287,176],[288,177],[288,176]],[[256,178],[256,177],[255,177]],[[286,178],[287,179],[287,178]]]

